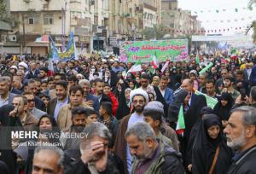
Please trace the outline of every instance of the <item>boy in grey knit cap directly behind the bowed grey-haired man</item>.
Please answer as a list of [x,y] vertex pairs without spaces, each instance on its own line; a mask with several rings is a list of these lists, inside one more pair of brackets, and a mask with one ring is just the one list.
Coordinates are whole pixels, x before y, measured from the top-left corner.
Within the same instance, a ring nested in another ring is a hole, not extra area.
[[[163,134],[166,131],[165,121],[163,119],[164,115],[164,106],[161,102],[153,101],[148,102],[147,106],[144,108],[144,121],[148,123],[154,130],[154,134],[156,138],[170,147],[174,148],[178,151],[178,142],[177,135],[174,130],[172,130],[172,139],[170,137],[166,137]],[[172,129],[172,128],[169,128]]]

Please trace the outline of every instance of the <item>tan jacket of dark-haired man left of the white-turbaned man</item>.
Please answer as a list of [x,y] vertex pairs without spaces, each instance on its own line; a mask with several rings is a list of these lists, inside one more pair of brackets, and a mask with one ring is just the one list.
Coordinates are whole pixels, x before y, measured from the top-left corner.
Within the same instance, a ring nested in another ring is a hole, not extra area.
[[[87,107],[87,108],[93,109],[92,107],[86,105],[84,102],[80,105],[80,107]],[[71,103],[68,103],[67,105],[61,107],[61,109],[58,113],[58,116],[57,116],[57,123],[58,123],[61,131],[72,125]]]

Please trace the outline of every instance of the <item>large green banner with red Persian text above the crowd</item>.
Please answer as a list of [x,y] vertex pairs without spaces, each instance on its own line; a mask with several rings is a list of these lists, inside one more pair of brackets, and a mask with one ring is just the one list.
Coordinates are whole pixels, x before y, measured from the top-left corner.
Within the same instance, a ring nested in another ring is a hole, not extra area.
[[188,40],[125,41],[120,47],[120,61],[150,62],[153,56],[157,61],[184,61],[188,58]]

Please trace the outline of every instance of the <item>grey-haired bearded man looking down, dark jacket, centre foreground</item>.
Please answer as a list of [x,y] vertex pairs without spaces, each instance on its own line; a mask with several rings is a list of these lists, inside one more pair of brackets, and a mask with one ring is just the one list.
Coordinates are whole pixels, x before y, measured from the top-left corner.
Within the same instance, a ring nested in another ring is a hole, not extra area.
[[183,174],[181,155],[170,146],[156,140],[153,129],[144,122],[137,122],[125,132],[131,154],[136,157],[131,174]]

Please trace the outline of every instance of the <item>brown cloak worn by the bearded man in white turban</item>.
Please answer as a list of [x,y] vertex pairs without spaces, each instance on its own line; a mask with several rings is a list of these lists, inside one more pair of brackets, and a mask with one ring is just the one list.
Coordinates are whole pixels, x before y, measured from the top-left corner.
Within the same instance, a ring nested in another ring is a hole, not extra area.
[[126,163],[127,142],[125,140],[125,131],[127,130],[128,121],[130,117],[131,115],[126,115],[123,119],[121,119],[119,124],[119,130],[117,131],[116,139],[113,147],[113,152],[117,154],[125,164],[125,174],[128,174],[127,163]]

